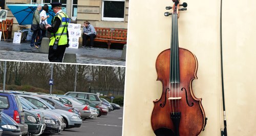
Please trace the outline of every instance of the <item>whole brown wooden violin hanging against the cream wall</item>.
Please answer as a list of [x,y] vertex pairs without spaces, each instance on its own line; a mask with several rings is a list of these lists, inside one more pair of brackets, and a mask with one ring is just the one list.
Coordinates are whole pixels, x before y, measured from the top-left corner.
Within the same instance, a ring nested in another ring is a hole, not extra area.
[[[198,61],[186,49],[179,48],[178,16],[187,4],[173,0],[170,49],[162,51],[156,60],[157,80],[162,82],[161,98],[154,102],[151,124],[156,135],[199,135],[206,124],[202,98],[193,94],[192,82],[197,79]],[[183,6],[184,8],[180,8]]]

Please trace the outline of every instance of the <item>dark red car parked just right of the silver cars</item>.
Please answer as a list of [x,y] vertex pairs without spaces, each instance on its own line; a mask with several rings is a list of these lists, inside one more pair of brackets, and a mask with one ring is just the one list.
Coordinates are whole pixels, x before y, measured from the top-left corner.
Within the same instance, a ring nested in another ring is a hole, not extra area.
[[90,105],[90,107],[97,108],[98,111],[99,111],[98,117],[100,117],[101,115],[108,115],[108,108],[105,108],[105,107],[103,107],[102,105],[99,105],[99,104],[96,105],[95,103],[93,103],[93,102],[91,102],[90,100],[87,100],[87,99],[78,98],[78,97],[75,97],[75,98],[83,104],[88,104],[88,105]]

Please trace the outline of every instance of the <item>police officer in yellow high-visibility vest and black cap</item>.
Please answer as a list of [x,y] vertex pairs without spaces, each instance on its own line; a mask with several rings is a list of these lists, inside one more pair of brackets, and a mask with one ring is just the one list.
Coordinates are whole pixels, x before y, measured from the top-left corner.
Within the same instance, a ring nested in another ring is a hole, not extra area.
[[61,10],[61,3],[51,3],[55,16],[52,26],[47,25],[46,29],[52,33],[49,44],[48,59],[50,62],[62,62],[65,50],[69,47],[68,43],[68,25],[69,17]]

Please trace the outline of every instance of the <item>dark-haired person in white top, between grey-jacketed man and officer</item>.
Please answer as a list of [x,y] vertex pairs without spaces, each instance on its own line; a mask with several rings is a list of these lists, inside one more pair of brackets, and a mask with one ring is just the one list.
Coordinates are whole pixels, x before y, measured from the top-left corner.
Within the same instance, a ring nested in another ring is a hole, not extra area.
[[[44,24],[47,25],[47,18],[50,17],[49,15],[47,15],[46,13],[48,12],[49,6],[47,4],[45,4],[42,7],[42,11],[40,13],[40,24]],[[40,48],[41,46],[41,41],[42,38],[46,37],[46,29],[40,29],[41,31],[41,36],[39,37],[39,39],[34,43],[35,48]]]

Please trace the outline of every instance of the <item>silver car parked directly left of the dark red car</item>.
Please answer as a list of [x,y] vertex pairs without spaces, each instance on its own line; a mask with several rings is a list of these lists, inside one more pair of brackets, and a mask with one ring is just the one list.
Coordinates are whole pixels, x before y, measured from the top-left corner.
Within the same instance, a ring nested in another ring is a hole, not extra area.
[[82,119],[87,119],[87,118],[91,117],[91,111],[90,111],[89,105],[84,105],[81,102],[79,102],[77,99],[70,97],[70,96],[58,95],[57,97],[61,101],[66,102],[66,103],[72,105],[73,107],[77,108],[78,110],[80,110],[80,113],[81,113],[80,116]]

